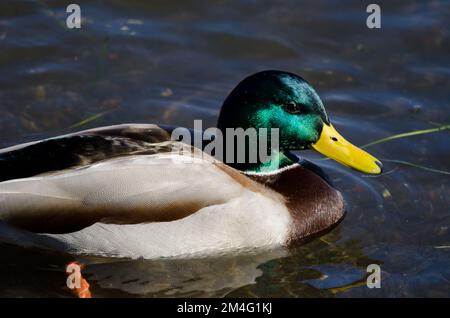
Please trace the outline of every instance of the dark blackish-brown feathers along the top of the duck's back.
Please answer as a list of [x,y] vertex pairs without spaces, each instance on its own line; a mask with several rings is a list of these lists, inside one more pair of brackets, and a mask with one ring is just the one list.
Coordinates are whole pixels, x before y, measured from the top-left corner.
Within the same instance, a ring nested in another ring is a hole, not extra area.
[[171,151],[170,128],[122,124],[0,149],[0,182],[81,167],[114,157]]

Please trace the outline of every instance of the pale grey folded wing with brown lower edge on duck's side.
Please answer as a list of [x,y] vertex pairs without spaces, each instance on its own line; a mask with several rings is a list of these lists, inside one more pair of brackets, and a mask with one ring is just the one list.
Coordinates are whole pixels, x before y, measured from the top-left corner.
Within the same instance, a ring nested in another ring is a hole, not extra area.
[[128,155],[0,182],[0,220],[48,233],[176,220],[250,191],[218,165],[190,153]]

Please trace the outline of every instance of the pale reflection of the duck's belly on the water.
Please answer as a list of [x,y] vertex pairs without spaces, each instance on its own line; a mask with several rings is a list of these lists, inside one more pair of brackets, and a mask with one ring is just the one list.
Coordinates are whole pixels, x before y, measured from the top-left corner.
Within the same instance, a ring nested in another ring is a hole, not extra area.
[[262,275],[259,265],[285,254],[278,250],[209,259],[111,262],[89,266],[85,273],[101,288],[131,295],[223,297],[253,284]]

